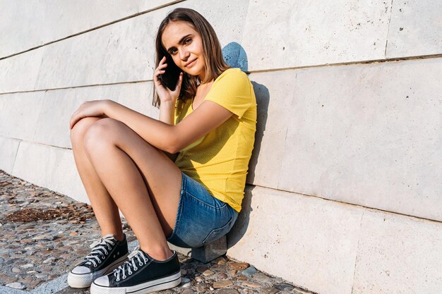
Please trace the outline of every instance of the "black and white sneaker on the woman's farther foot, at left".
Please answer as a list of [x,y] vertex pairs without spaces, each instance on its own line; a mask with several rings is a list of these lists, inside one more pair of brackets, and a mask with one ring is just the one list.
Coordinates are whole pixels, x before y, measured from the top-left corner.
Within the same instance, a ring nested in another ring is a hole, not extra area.
[[126,235],[119,241],[108,234],[90,245],[92,251],[68,274],[72,288],[88,288],[95,278],[108,274],[122,264],[128,255]]

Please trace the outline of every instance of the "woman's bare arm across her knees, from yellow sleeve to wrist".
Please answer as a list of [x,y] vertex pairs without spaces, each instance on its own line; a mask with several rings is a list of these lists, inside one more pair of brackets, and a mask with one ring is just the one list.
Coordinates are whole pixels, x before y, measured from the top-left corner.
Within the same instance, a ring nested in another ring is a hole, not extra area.
[[179,152],[232,116],[232,112],[219,104],[205,101],[177,125],[170,125],[133,111],[112,100],[107,100],[105,105],[105,115],[121,121],[150,145],[170,154]]

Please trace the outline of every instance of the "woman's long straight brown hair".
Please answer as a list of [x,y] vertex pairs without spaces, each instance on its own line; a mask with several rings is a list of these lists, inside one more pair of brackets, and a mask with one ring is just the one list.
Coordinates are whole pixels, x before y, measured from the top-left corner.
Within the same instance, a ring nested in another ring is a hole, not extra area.
[[[190,8],[175,8],[172,12],[167,14],[164,20],[162,20],[160,27],[158,27],[157,38],[155,40],[155,68],[157,68],[160,60],[163,56],[168,55],[165,47],[162,44],[162,34],[169,25],[174,21],[185,21],[190,23],[194,29],[201,35],[203,42],[203,55],[205,60],[205,77],[203,80],[199,80],[196,75],[189,75],[184,73],[183,83],[179,92],[179,99],[183,101],[192,98],[196,94],[196,88],[199,82],[205,83],[215,80],[221,75],[229,66],[222,59],[222,50],[220,41],[217,38],[215,30],[212,25],[203,17],[200,13]],[[156,91],[153,93],[153,106],[160,107],[160,97]]]

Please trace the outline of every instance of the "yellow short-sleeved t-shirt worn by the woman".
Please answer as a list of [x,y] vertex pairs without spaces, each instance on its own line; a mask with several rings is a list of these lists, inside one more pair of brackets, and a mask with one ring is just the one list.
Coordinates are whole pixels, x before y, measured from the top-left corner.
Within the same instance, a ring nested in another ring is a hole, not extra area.
[[[256,98],[246,73],[229,68],[212,84],[204,98],[233,115],[204,137],[179,152],[175,164],[211,195],[241,210],[246,175],[255,141]],[[193,99],[177,100],[175,124],[191,114]]]

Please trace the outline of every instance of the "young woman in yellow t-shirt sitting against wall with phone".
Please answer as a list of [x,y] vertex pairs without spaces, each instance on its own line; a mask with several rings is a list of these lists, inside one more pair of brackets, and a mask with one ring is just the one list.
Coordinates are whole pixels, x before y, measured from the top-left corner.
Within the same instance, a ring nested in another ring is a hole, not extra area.
[[[213,27],[177,8],[156,39],[154,102],[160,119],[112,100],[81,104],[71,142],[102,238],[68,274],[91,293],[151,293],[179,285],[180,247],[222,237],[237,219],[256,130],[256,99],[247,75],[222,59]],[[160,80],[181,69],[169,90]],[[176,158],[175,158],[176,157]],[[139,247],[128,256],[119,209]],[[91,285],[92,284],[92,285]]]

